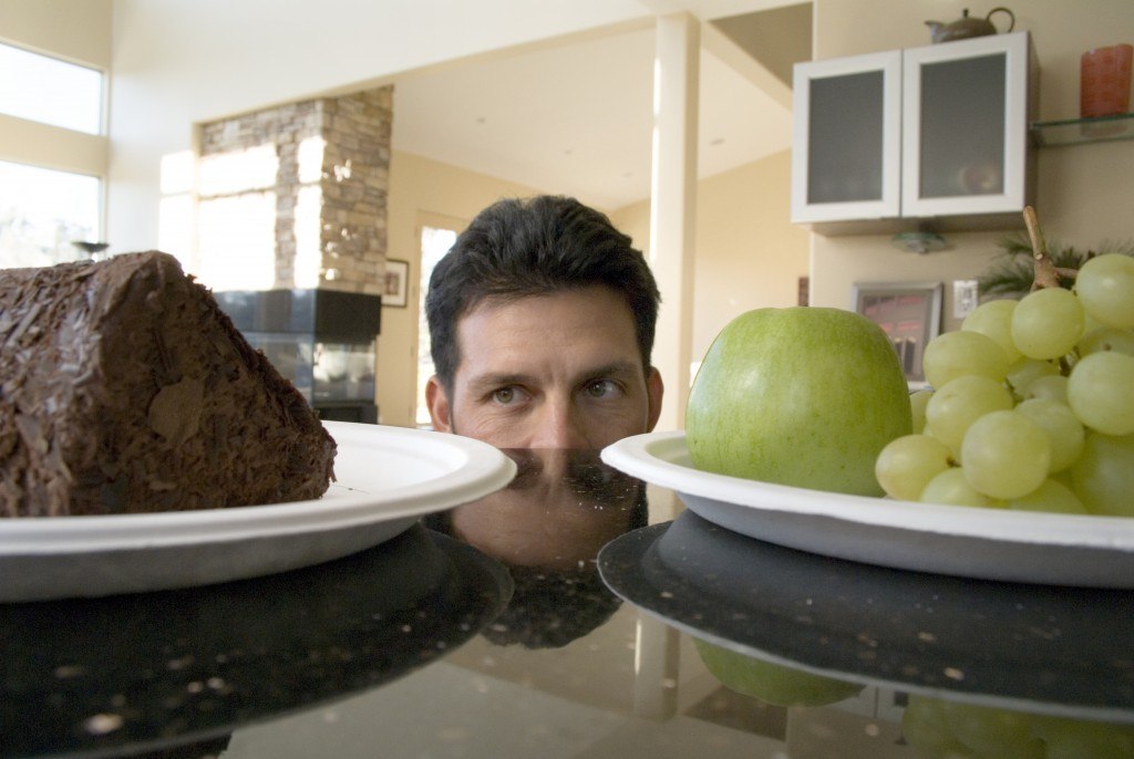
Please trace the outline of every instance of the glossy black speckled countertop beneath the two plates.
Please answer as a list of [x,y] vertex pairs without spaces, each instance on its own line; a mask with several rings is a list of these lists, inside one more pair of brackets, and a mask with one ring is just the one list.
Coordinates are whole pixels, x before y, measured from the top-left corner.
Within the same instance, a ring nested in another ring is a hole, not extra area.
[[508,488],[342,561],[0,606],[0,756],[1134,749],[1132,591],[824,558],[593,452],[509,455]]

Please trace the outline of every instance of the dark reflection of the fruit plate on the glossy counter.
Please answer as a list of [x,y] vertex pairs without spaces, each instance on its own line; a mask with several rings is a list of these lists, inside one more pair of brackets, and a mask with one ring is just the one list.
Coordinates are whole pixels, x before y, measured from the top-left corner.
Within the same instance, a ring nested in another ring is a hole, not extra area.
[[974,581],[754,540],[692,512],[616,538],[603,581],[689,634],[815,674],[1134,723],[1134,592]]

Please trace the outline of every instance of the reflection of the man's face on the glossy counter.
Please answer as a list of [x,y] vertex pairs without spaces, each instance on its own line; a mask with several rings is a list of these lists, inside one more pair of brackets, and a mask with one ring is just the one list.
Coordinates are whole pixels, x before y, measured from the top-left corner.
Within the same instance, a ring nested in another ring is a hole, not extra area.
[[599,549],[640,525],[641,483],[602,464],[596,453],[509,452],[511,484],[455,509],[452,534],[513,566],[586,571]]

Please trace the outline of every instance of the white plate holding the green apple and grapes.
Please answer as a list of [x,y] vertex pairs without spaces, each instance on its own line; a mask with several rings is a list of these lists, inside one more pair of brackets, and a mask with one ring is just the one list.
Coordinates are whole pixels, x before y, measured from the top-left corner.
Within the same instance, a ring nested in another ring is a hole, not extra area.
[[744,535],[838,558],[1016,582],[1134,588],[1134,519],[821,493],[694,469],[685,433],[628,437],[607,463]]

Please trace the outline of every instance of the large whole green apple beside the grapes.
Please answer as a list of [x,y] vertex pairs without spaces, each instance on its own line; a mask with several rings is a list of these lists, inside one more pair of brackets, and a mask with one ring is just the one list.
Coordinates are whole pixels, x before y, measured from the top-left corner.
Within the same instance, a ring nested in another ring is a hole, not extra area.
[[912,429],[890,339],[839,308],[761,308],[733,319],[697,372],[685,430],[697,469],[882,495],[879,452]]

